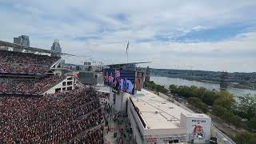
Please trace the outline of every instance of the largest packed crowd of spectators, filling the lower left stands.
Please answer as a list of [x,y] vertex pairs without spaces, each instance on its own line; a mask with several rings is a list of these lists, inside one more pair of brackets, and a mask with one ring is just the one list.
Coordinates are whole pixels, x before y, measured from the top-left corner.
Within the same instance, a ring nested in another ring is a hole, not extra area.
[[103,115],[92,88],[39,98],[0,97],[0,143],[103,143]]

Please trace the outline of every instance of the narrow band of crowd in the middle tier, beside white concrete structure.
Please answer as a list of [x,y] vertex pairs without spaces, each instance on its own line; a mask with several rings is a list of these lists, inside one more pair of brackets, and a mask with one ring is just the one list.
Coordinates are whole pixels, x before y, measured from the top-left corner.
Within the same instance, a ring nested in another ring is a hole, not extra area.
[[7,79],[0,81],[0,92],[14,94],[39,94],[62,81],[58,76],[48,76],[38,81]]

